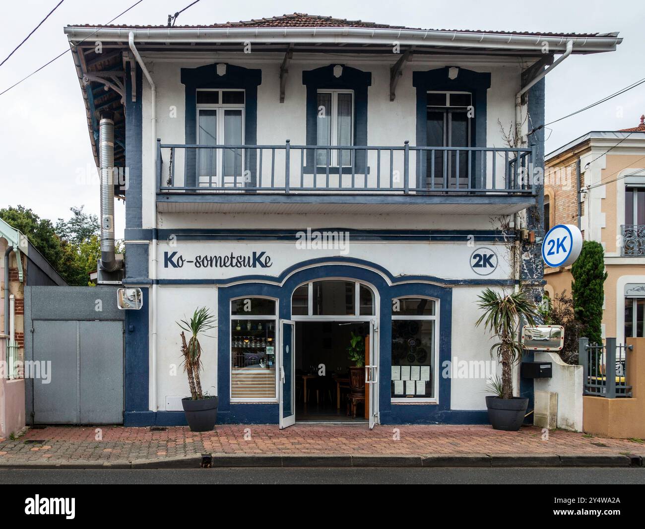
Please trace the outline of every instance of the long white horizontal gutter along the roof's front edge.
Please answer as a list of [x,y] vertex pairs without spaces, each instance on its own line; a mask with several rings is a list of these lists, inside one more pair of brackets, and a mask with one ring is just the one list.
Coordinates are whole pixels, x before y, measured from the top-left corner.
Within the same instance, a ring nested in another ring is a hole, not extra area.
[[548,43],[553,52],[563,52],[570,40],[577,53],[608,52],[622,42],[617,34],[596,37],[553,37],[544,35],[515,35],[486,32],[459,32],[440,30],[397,30],[387,28],[101,28],[66,27],[65,34],[72,43],[96,36],[113,41],[129,39],[130,34],[139,43],[240,43],[253,39],[276,43],[393,43],[414,46],[468,46],[470,48],[514,48],[542,52]]

